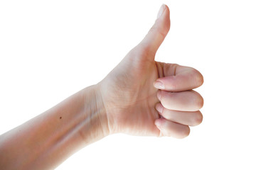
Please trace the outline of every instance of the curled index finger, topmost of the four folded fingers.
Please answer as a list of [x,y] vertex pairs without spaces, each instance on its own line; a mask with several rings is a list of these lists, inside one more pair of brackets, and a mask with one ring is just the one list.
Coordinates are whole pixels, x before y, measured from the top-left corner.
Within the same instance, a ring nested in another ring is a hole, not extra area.
[[166,91],[187,91],[195,89],[203,84],[203,76],[198,70],[191,67],[184,67],[178,64],[166,64],[158,62],[161,67],[160,77],[154,82],[156,89]]

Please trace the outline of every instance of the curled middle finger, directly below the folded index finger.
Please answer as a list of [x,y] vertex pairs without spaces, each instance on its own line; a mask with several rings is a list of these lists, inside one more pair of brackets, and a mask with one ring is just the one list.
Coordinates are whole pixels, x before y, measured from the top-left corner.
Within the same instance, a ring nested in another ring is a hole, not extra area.
[[198,111],[203,107],[203,98],[196,91],[157,91],[157,98],[164,108],[172,111]]

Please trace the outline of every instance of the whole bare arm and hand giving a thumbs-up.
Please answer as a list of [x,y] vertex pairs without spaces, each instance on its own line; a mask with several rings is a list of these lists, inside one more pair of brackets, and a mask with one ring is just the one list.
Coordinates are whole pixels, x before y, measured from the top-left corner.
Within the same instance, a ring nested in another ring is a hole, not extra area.
[[161,6],[154,26],[110,74],[0,136],[0,167],[54,169],[70,155],[114,133],[188,136],[203,119],[203,84],[196,69],[156,62],[170,29]]

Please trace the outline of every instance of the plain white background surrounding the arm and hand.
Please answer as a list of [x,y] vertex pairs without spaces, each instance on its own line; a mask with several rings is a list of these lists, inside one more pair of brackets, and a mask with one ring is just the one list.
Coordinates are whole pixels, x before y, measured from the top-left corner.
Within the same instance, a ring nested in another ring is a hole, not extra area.
[[203,123],[184,140],[112,135],[58,169],[256,169],[255,1],[0,1],[0,134],[103,79],[163,3],[156,60],[203,74]]

